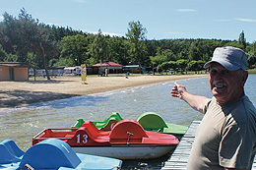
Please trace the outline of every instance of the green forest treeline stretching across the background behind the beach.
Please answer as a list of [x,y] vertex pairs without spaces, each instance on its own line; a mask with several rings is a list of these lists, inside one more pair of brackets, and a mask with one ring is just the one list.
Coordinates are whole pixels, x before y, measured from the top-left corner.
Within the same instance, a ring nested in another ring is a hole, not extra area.
[[[248,55],[248,67],[255,67],[256,42],[248,43],[244,31],[237,40],[222,39],[147,39],[147,28],[128,24],[125,36],[103,35],[49,26],[33,19],[23,8],[18,18],[5,12],[0,23],[0,62],[27,62],[33,69],[52,66],[92,66],[113,61],[140,65],[157,71],[202,70],[219,46],[234,46]],[[49,78],[48,78],[49,79]]]

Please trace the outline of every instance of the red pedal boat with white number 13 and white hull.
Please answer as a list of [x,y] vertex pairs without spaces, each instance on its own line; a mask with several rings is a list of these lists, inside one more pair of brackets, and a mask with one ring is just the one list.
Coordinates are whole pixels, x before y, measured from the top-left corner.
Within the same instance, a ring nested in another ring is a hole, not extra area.
[[91,121],[76,129],[45,129],[33,137],[32,144],[46,139],[67,142],[78,153],[120,159],[157,158],[178,144],[174,136],[144,131],[137,121],[131,119],[118,122],[108,132],[98,130]]

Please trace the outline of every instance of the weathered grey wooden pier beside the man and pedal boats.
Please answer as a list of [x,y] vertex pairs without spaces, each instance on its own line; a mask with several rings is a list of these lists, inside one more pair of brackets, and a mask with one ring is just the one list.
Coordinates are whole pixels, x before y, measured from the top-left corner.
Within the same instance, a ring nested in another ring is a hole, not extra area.
[[[161,169],[168,170],[185,170],[192,148],[192,144],[195,140],[196,130],[201,121],[193,121],[189,126],[186,134],[183,136],[178,146],[172,153],[171,157],[164,162],[164,166]],[[256,170],[256,159],[254,158],[254,163],[252,170]]]

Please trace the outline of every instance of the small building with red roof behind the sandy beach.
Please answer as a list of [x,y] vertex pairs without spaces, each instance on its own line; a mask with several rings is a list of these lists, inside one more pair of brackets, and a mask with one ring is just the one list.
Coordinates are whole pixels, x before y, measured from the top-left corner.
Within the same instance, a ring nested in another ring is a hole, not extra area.
[[[93,68],[96,68],[98,71],[101,71],[102,74],[105,73],[105,69],[107,69],[107,73],[110,73],[110,74],[123,73],[123,65],[114,63],[111,61],[97,63],[97,64],[93,65]],[[101,70],[100,70],[100,68],[101,68]]]

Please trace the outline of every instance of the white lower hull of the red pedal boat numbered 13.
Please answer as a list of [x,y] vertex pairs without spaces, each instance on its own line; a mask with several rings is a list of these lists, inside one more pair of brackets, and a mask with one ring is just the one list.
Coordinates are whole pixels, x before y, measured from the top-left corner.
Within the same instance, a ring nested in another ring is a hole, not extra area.
[[77,153],[95,154],[118,159],[153,159],[171,152],[176,145],[72,146]]

